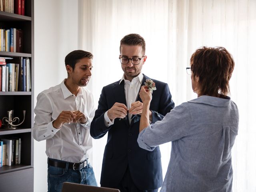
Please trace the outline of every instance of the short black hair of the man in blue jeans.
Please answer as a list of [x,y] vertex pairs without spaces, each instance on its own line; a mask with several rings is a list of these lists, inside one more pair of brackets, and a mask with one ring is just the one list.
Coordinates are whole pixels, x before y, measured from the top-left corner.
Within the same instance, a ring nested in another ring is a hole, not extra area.
[[90,52],[84,50],[74,50],[67,54],[67,56],[65,57],[65,65],[69,65],[72,67],[72,69],[74,69],[78,60],[82,58],[92,59],[93,55]]

